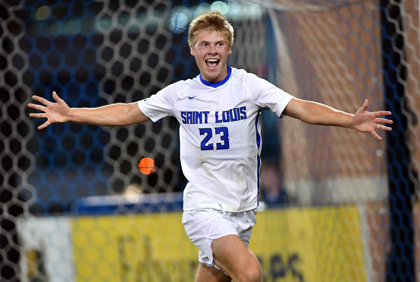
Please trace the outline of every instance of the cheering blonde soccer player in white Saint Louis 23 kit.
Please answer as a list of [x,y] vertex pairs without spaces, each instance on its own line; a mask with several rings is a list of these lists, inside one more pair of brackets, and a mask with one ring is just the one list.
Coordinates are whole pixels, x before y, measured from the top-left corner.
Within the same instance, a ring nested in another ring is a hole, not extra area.
[[320,103],[294,98],[266,80],[226,65],[234,30],[218,11],[203,13],[189,26],[188,43],[200,74],[178,81],[134,103],[98,108],[70,108],[53,92],[56,103],[29,104],[54,122],[123,126],[165,116],[181,124],[181,165],[188,184],[182,222],[199,248],[197,282],[261,281],[261,266],[248,248],[255,224],[260,184],[260,110],[291,116],[310,124],[333,125],[369,132],[391,130],[389,111],[366,111],[368,101],[349,114]]

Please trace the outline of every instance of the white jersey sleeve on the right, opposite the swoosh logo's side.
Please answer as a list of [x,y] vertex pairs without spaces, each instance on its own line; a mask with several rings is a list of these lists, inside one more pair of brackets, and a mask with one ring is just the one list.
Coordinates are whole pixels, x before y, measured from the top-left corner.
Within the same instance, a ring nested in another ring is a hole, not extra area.
[[282,115],[284,108],[294,98],[294,96],[256,75],[251,75],[247,81],[247,86],[255,105],[259,109],[270,109],[278,117],[284,116]]

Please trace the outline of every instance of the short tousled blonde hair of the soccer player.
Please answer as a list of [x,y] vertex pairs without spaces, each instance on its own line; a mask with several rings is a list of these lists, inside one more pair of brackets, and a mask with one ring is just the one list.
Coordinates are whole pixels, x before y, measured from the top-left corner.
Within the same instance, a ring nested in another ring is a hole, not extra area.
[[221,32],[226,37],[228,46],[234,44],[234,28],[228,19],[218,10],[211,10],[202,13],[191,21],[188,29],[188,45],[194,47],[195,36],[200,30]]

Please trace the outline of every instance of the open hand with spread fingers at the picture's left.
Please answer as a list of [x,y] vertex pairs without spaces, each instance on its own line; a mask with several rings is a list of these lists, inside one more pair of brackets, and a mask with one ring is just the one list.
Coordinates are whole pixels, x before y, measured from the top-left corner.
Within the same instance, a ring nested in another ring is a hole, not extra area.
[[68,122],[70,120],[70,107],[64,102],[63,99],[58,97],[57,93],[53,91],[53,98],[57,103],[50,102],[39,96],[32,96],[35,101],[43,103],[45,106],[37,104],[28,104],[29,108],[44,111],[44,113],[34,114],[29,116],[38,118],[47,118],[47,121],[41,124],[38,129],[43,129],[54,122]]

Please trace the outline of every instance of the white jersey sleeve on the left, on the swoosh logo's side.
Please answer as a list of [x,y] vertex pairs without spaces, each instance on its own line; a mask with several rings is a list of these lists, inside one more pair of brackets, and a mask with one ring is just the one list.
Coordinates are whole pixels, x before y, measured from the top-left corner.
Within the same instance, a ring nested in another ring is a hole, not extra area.
[[176,91],[169,85],[149,98],[138,101],[137,104],[143,114],[157,122],[165,116],[173,116],[175,97]]

